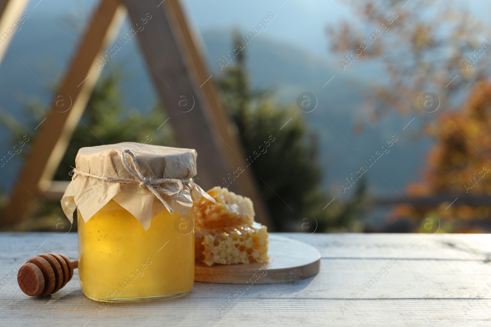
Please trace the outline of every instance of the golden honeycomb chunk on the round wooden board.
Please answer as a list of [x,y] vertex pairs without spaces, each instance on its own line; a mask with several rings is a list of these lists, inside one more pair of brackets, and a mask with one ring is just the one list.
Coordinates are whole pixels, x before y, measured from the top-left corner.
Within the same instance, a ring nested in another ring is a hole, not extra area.
[[202,198],[194,204],[195,261],[208,266],[268,261],[267,227],[254,222],[252,201],[226,188],[207,193],[217,203]]

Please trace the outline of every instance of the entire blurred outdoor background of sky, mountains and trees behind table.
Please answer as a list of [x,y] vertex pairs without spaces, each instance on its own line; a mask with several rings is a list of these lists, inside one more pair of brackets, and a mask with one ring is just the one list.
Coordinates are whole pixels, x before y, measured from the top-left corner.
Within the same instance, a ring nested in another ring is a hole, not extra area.
[[[0,212],[97,5],[31,1],[15,31],[0,66],[0,157],[24,146],[0,164]],[[274,130],[251,168],[277,230],[491,231],[489,1],[182,5],[246,156]],[[127,18],[119,36],[131,28]],[[138,55],[132,39],[104,65],[55,180],[70,180],[84,146],[178,146]],[[68,231],[59,199],[36,200],[0,229]]]

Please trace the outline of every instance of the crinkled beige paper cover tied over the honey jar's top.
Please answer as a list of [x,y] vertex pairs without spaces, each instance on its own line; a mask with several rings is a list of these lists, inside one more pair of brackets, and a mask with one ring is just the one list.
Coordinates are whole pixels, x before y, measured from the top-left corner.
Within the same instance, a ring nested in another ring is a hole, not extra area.
[[114,200],[147,230],[164,210],[187,215],[193,199],[214,201],[192,181],[196,157],[194,149],[135,142],[81,148],[61,207],[71,222],[77,208],[87,222]]

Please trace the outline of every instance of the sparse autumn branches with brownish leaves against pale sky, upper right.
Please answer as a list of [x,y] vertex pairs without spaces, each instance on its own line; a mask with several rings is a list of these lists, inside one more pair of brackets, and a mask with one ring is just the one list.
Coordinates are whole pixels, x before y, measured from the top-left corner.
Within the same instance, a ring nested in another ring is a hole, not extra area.
[[478,54],[483,43],[491,46],[483,34],[487,28],[452,2],[411,0],[404,6],[399,0],[347,2],[357,28],[342,22],[328,26],[327,36],[344,70],[363,60],[385,69],[388,82],[381,76],[373,85],[372,118],[395,109],[422,113],[420,119],[432,121],[435,115],[422,111],[419,104],[423,93],[436,93],[440,108],[460,107],[469,90],[489,77],[491,57]]

